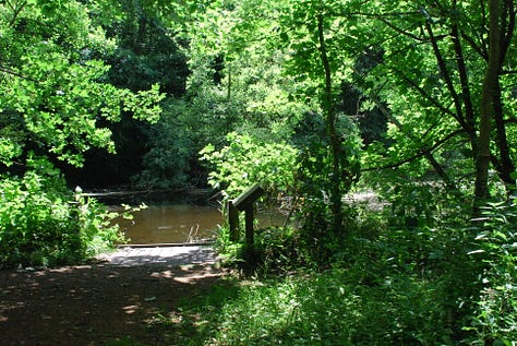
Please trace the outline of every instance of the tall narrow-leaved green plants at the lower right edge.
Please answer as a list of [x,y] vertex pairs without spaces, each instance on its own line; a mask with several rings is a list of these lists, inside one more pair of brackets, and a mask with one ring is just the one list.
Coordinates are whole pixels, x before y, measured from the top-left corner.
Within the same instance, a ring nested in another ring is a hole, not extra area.
[[477,220],[472,261],[482,263],[471,345],[515,345],[517,341],[517,203],[490,203]]

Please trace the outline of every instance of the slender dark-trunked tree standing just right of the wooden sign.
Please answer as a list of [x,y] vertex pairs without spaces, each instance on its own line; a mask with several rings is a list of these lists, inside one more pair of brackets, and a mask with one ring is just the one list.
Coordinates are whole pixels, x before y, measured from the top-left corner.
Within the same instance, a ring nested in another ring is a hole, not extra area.
[[340,85],[350,76],[347,61],[351,60],[340,48],[345,33],[335,12],[337,8],[340,4],[334,1],[294,1],[289,8],[292,16],[289,17],[287,11],[282,13],[280,34],[287,49],[293,51],[288,71],[298,80],[305,79],[305,97],[312,93],[318,96],[316,109],[323,114],[326,128],[322,148],[327,143],[329,155],[328,178],[318,179],[330,180],[328,189],[324,190],[329,195],[330,228],[335,236],[342,234],[341,199],[357,179],[359,168],[352,144],[354,131],[348,128],[348,132],[340,132],[338,128],[338,95]]

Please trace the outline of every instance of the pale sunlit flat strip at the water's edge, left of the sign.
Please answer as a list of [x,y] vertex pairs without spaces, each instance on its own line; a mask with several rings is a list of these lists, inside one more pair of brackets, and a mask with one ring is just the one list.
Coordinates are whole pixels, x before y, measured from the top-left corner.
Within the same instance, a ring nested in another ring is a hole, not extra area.
[[187,265],[214,264],[217,256],[211,246],[127,247],[101,256],[110,265]]

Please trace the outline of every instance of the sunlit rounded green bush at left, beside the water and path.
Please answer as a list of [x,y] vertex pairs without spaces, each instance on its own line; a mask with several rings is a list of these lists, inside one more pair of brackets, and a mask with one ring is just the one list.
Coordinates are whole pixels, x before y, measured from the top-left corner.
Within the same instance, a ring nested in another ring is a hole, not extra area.
[[0,195],[0,266],[74,263],[122,239],[115,214],[56,176],[2,177]]

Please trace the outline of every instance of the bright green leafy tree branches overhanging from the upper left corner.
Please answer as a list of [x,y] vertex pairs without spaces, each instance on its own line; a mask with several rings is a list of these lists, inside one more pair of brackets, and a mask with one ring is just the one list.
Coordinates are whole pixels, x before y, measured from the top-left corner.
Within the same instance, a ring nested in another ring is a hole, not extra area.
[[35,152],[81,166],[92,147],[115,152],[111,131],[99,120],[122,111],[155,121],[158,86],[132,93],[103,82],[109,67],[92,57],[115,43],[80,1],[0,3],[0,159],[24,165]]

